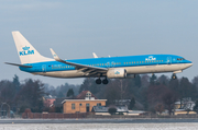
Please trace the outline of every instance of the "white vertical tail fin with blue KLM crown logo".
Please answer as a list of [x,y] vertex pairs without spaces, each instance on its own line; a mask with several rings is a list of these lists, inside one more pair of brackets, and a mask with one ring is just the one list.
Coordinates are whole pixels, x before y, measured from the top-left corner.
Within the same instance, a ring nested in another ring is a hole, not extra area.
[[22,64],[53,60],[40,55],[20,32],[12,32],[12,36]]

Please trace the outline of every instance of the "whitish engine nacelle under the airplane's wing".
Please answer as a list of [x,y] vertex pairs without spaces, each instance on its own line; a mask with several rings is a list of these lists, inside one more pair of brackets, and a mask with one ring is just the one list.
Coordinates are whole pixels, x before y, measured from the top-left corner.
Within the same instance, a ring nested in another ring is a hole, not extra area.
[[109,79],[127,78],[127,70],[125,69],[110,69],[107,72],[107,78]]

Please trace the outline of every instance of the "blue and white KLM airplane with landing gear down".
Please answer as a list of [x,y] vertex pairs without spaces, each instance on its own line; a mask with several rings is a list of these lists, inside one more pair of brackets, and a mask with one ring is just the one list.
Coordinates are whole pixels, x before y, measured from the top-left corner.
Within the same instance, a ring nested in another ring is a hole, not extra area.
[[[176,73],[193,66],[193,62],[175,55],[142,55],[63,60],[51,49],[53,58],[46,58],[15,31],[12,32],[21,63],[6,62],[19,67],[21,71],[34,75],[53,78],[97,78],[97,84],[108,84],[108,79],[135,78],[135,74],[173,72]],[[101,80],[102,79],[102,80]]]

